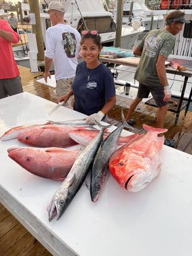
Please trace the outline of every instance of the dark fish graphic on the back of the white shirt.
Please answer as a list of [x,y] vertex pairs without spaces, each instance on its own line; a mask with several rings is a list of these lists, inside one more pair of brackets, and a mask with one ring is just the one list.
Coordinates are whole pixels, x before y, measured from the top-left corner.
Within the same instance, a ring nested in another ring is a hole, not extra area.
[[67,54],[68,58],[74,58],[75,57],[75,51],[76,51],[76,39],[74,33],[63,33],[63,40],[62,45],[64,48],[64,51]]

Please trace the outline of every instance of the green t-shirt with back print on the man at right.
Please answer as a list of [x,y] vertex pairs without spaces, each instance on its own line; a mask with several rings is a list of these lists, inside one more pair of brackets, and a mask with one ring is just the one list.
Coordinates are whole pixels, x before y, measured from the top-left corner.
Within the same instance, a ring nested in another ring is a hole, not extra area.
[[159,55],[166,59],[175,46],[175,36],[166,30],[151,30],[138,44],[143,51],[134,79],[145,84],[154,86],[161,84],[156,72],[156,61]]

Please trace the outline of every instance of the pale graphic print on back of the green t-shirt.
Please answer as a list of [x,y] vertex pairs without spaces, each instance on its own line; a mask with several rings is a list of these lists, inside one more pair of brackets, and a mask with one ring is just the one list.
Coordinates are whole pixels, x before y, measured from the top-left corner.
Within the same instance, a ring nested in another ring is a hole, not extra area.
[[146,38],[146,42],[143,48],[144,54],[149,58],[154,58],[156,50],[158,49],[159,43],[163,39],[155,34],[150,35]]

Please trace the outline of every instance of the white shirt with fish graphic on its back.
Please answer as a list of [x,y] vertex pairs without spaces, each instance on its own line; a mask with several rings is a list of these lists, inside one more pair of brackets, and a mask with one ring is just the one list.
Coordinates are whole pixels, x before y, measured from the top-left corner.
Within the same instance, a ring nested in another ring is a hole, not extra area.
[[46,31],[45,56],[54,60],[55,80],[75,76],[81,35],[75,28],[58,23]]

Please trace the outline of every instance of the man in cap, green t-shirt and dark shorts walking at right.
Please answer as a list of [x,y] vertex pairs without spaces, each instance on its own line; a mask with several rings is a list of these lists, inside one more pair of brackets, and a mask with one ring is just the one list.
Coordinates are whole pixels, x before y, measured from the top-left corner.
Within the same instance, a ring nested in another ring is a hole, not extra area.
[[[190,23],[184,19],[184,14],[179,10],[167,14],[165,28],[149,31],[133,51],[134,55],[141,56],[141,58],[134,76],[134,79],[139,82],[137,97],[132,101],[126,115],[129,125],[135,123],[135,120],[130,117],[137,105],[143,98],[148,98],[151,93],[158,105],[156,127],[164,128],[168,103],[172,96],[167,81],[165,61],[175,46],[175,35],[182,30],[184,23]],[[176,142],[165,139],[164,144],[175,146]]]

